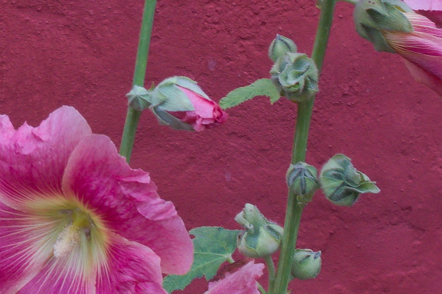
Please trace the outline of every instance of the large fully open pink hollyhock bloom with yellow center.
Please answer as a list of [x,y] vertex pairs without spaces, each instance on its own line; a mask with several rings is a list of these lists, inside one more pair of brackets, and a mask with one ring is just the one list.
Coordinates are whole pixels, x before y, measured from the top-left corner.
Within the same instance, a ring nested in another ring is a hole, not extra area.
[[0,293],[166,294],[193,245],[148,173],[72,107],[15,130],[0,116]]

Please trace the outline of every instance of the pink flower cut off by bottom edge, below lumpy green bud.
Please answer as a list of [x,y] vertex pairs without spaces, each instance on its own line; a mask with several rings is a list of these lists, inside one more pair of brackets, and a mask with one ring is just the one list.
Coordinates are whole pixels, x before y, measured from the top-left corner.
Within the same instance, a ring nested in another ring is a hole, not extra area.
[[225,278],[209,283],[209,290],[205,294],[259,294],[256,279],[262,275],[263,264],[254,264],[250,261],[234,273]]

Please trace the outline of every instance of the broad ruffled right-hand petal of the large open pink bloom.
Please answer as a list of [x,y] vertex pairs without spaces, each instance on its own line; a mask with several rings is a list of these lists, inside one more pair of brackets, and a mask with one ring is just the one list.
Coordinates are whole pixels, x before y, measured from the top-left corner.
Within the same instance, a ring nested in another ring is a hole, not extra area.
[[190,269],[193,244],[175,207],[158,196],[147,172],[129,167],[108,137],[91,135],[78,144],[63,191],[75,194],[117,234],[150,247],[161,257],[163,272]]

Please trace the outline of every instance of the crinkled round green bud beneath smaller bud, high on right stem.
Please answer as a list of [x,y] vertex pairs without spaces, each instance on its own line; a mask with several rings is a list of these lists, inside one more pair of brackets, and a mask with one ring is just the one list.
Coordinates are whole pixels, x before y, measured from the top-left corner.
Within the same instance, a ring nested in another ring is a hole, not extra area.
[[278,58],[270,75],[280,95],[291,101],[308,100],[318,91],[318,69],[303,53],[286,52]]

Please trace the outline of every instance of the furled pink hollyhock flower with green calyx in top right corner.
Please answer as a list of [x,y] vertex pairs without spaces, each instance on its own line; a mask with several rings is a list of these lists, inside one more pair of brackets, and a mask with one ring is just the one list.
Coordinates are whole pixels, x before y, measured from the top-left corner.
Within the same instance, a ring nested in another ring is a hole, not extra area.
[[[417,7],[416,1],[407,2]],[[442,28],[414,13],[404,2],[394,3],[359,1],[354,13],[356,29],[377,50],[404,57],[414,78],[442,96]]]

